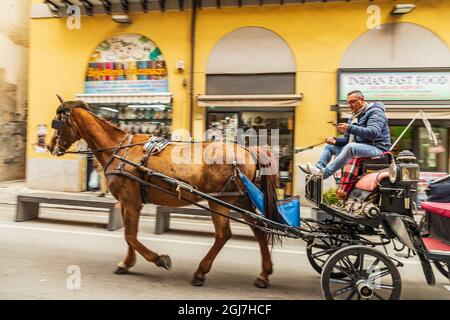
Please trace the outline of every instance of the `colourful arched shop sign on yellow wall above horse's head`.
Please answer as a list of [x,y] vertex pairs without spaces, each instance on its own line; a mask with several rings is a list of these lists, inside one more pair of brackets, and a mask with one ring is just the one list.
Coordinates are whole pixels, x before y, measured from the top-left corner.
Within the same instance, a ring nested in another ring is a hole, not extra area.
[[85,93],[168,92],[166,63],[159,48],[139,34],[103,41],[91,56]]

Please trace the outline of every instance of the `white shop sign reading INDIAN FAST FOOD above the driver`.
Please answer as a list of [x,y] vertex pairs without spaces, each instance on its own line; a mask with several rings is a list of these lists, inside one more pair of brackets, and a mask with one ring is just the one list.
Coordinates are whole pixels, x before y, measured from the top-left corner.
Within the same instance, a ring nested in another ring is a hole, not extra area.
[[339,72],[339,100],[360,90],[366,100],[446,101],[450,100],[449,71],[348,71]]

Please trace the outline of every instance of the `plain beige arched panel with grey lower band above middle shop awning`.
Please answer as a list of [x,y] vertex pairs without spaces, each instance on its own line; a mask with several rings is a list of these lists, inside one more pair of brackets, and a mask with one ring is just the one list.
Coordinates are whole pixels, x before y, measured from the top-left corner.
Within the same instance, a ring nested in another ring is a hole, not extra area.
[[292,94],[295,60],[276,33],[244,27],[224,36],[206,66],[207,94]]

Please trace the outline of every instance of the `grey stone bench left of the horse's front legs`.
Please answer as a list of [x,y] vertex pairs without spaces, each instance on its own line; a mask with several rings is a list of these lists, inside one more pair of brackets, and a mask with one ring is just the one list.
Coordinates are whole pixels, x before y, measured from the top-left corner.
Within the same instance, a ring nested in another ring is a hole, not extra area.
[[68,196],[65,194],[29,193],[18,195],[15,221],[22,222],[37,219],[39,216],[39,204],[41,203],[109,209],[106,229],[114,231],[123,227],[120,205],[115,199],[97,196]]

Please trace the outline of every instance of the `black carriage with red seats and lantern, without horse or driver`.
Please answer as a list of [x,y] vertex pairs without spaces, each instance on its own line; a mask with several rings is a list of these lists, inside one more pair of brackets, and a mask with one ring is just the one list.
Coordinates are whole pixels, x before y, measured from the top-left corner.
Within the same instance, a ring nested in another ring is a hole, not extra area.
[[[397,159],[387,153],[363,160],[358,182],[339,207],[324,202],[320,177],[307,177],[307,199],[330,217],[318,229],[333,226],[326,231],[329,239],[308,244],[308,259],[321,273],[326,299],[399,299],[398,267],[403,263],[389,254],[389,245],[394,252],[406,249],[406,258],[417,255],[429,285],[436,282],[431,262],[449,278],[450,246],[445,242],[450,239],[427,233],[414,219],[420,170],[415,160],[410,152]],[[448,204],[425,202],[422,207],[425,218],[450,218]]]

